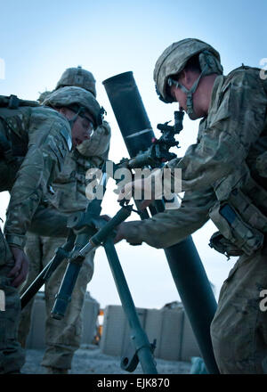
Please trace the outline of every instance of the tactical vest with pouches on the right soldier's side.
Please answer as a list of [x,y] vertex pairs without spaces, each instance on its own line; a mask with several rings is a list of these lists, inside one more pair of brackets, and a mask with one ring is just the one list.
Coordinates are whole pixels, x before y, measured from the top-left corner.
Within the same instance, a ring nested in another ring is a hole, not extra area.
[[[267,83],[265,84],[267,95]],[[205,124],[202,124],[202,127]],[[201,138],[201,132],[198,134]],[[252,255],[267,234],[267,119],[244,167],[214,185],[217,202],[209,216],[219,232],[209,245],[226,256]]]

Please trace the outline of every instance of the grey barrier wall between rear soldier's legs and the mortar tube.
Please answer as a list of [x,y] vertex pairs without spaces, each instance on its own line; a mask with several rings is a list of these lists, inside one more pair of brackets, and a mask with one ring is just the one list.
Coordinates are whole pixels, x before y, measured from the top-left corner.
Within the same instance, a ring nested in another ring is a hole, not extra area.
[[[200,356],[198,343],[183,307],[169,309],[137,308],[142,327],[150,343],[157,339],[155,357],[169,361],[190,361]],[[107,306],[101,336],[101,352],[123,356],[131,339],[122,306]]]

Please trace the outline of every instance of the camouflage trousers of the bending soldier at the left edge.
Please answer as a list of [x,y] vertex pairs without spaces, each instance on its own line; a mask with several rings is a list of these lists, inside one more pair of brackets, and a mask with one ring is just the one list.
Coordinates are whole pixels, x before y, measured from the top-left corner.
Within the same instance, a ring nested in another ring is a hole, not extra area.
[[14,264],[12,253],[0,229],[0,374],[20,372],[25,362],[18,341],[20,321],[19,290],[7,277]]

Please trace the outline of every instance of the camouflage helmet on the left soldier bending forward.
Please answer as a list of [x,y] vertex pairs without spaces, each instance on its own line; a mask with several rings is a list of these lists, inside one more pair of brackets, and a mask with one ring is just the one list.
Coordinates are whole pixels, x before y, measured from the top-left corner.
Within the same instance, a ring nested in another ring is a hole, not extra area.
[[54,90],[44,100],[44,105],[52,108],[69,108],[80,116],[83,116],[85,110],[88,110],[93,118],[94,128],[101,126],[105,112],[92,93],[77,86],[61,87]]

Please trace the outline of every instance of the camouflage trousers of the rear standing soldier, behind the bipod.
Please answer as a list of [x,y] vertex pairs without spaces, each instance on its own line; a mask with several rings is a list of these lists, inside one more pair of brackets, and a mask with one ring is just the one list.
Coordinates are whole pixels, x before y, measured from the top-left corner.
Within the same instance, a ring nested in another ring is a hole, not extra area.
[[[29,258],[29,273],[26,290],[45,265],[51,260],[55,249],[65,242],[64,238],[41,237],[28,233],[25,252]],[[93,276],[93,253],[85,258],[85,262],[77,278],[75,289],[69,303],[68,310],[62,320],[55,320],[50,316],[53,308],[55,295],[60,289],[61,280],[67,266],[66,260],[56,269],[44,287],[44,298],[46,306],[45,323],[45,352],[42,361],[43,366],[55,367],[57,369],[70,369],[72,357],[80,346],[82,335],[81,311],[84,305],[87,283]],[[19,340],[22,347],[26,345],[26,339],[30,328],[30,315],[33,299],[21,312]]]

